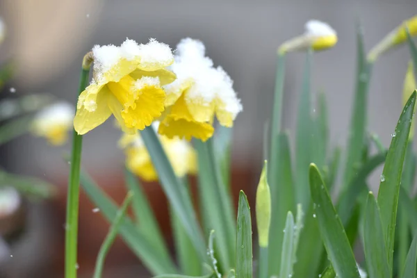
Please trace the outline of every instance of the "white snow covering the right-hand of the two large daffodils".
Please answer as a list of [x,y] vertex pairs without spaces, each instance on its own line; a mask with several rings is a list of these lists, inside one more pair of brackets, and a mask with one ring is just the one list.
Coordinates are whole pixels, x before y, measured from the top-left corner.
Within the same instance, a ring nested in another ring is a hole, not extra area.
[[177,80],[165,85],[167,95],[179,95],[181,86],[190,82],[192,85],[185,95],[186,101],[210,106],[217,99],[224,104],[225,111],[236,117],[243,107],[233,89],[233,81],[222,67],[213,67],[213,60],[204,53],[204,44],[199,40],[185,38],[179,42],[175,63],[170,67],[177,74]]

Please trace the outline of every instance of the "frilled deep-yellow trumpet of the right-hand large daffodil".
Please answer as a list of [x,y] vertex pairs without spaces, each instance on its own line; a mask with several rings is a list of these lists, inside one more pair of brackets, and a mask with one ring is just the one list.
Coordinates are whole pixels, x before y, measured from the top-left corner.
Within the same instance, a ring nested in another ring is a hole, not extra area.
[[186,138],[191,140],[192,137],[199,138],[206,141],[213,136],[214,128],[205,122],[195,122],[187,120],[186,118],[169,115],[165,120],[159,124],[158,133],[167,136],[168,138]]

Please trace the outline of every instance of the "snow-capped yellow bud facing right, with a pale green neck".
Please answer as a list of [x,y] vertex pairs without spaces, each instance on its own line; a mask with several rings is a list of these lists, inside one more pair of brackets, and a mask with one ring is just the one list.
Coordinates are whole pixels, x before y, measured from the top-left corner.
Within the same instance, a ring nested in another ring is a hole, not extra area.
[[279,52],[307,50],[310,47],[314,51],[321,51],[334,47],[336,42],[336,31],[329,24],[318,20],[310,20],[305,24],[304,34],[281,44]]

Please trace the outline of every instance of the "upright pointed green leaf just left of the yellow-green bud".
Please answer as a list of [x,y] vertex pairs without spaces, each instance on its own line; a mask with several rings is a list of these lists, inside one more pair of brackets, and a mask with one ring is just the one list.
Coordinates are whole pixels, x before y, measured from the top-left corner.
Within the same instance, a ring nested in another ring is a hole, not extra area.
[[236,277],[252,278],[252,220],[247,197],[239,193],[236,232]]

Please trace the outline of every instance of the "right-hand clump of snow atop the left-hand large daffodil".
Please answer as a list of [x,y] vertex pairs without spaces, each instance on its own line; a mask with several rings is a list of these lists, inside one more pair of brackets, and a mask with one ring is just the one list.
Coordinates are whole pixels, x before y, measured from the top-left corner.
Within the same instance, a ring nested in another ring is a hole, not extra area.
[[147,44],[139,45],[139,57],[142,67],[169,66],[174,62],[172,50],[167,44],[151,38]]

